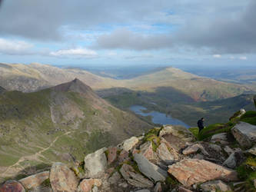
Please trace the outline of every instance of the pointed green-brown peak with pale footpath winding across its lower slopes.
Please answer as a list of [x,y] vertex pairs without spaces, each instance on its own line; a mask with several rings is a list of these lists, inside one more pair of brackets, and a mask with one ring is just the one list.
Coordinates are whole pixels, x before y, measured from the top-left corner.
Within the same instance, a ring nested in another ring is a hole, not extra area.
[[54,161],[74,164],[84,154],[152,127],[78,79],[32,93],[5,91],[0,106],[0,177]]

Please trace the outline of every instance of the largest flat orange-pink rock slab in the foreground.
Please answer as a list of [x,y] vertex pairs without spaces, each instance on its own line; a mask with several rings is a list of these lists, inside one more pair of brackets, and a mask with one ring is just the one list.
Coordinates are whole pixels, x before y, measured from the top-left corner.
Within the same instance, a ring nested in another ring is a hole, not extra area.
[[237,172],[205,160],[185,159],[168,166],[168,173],[186,187],[208,180],[237,180]]

